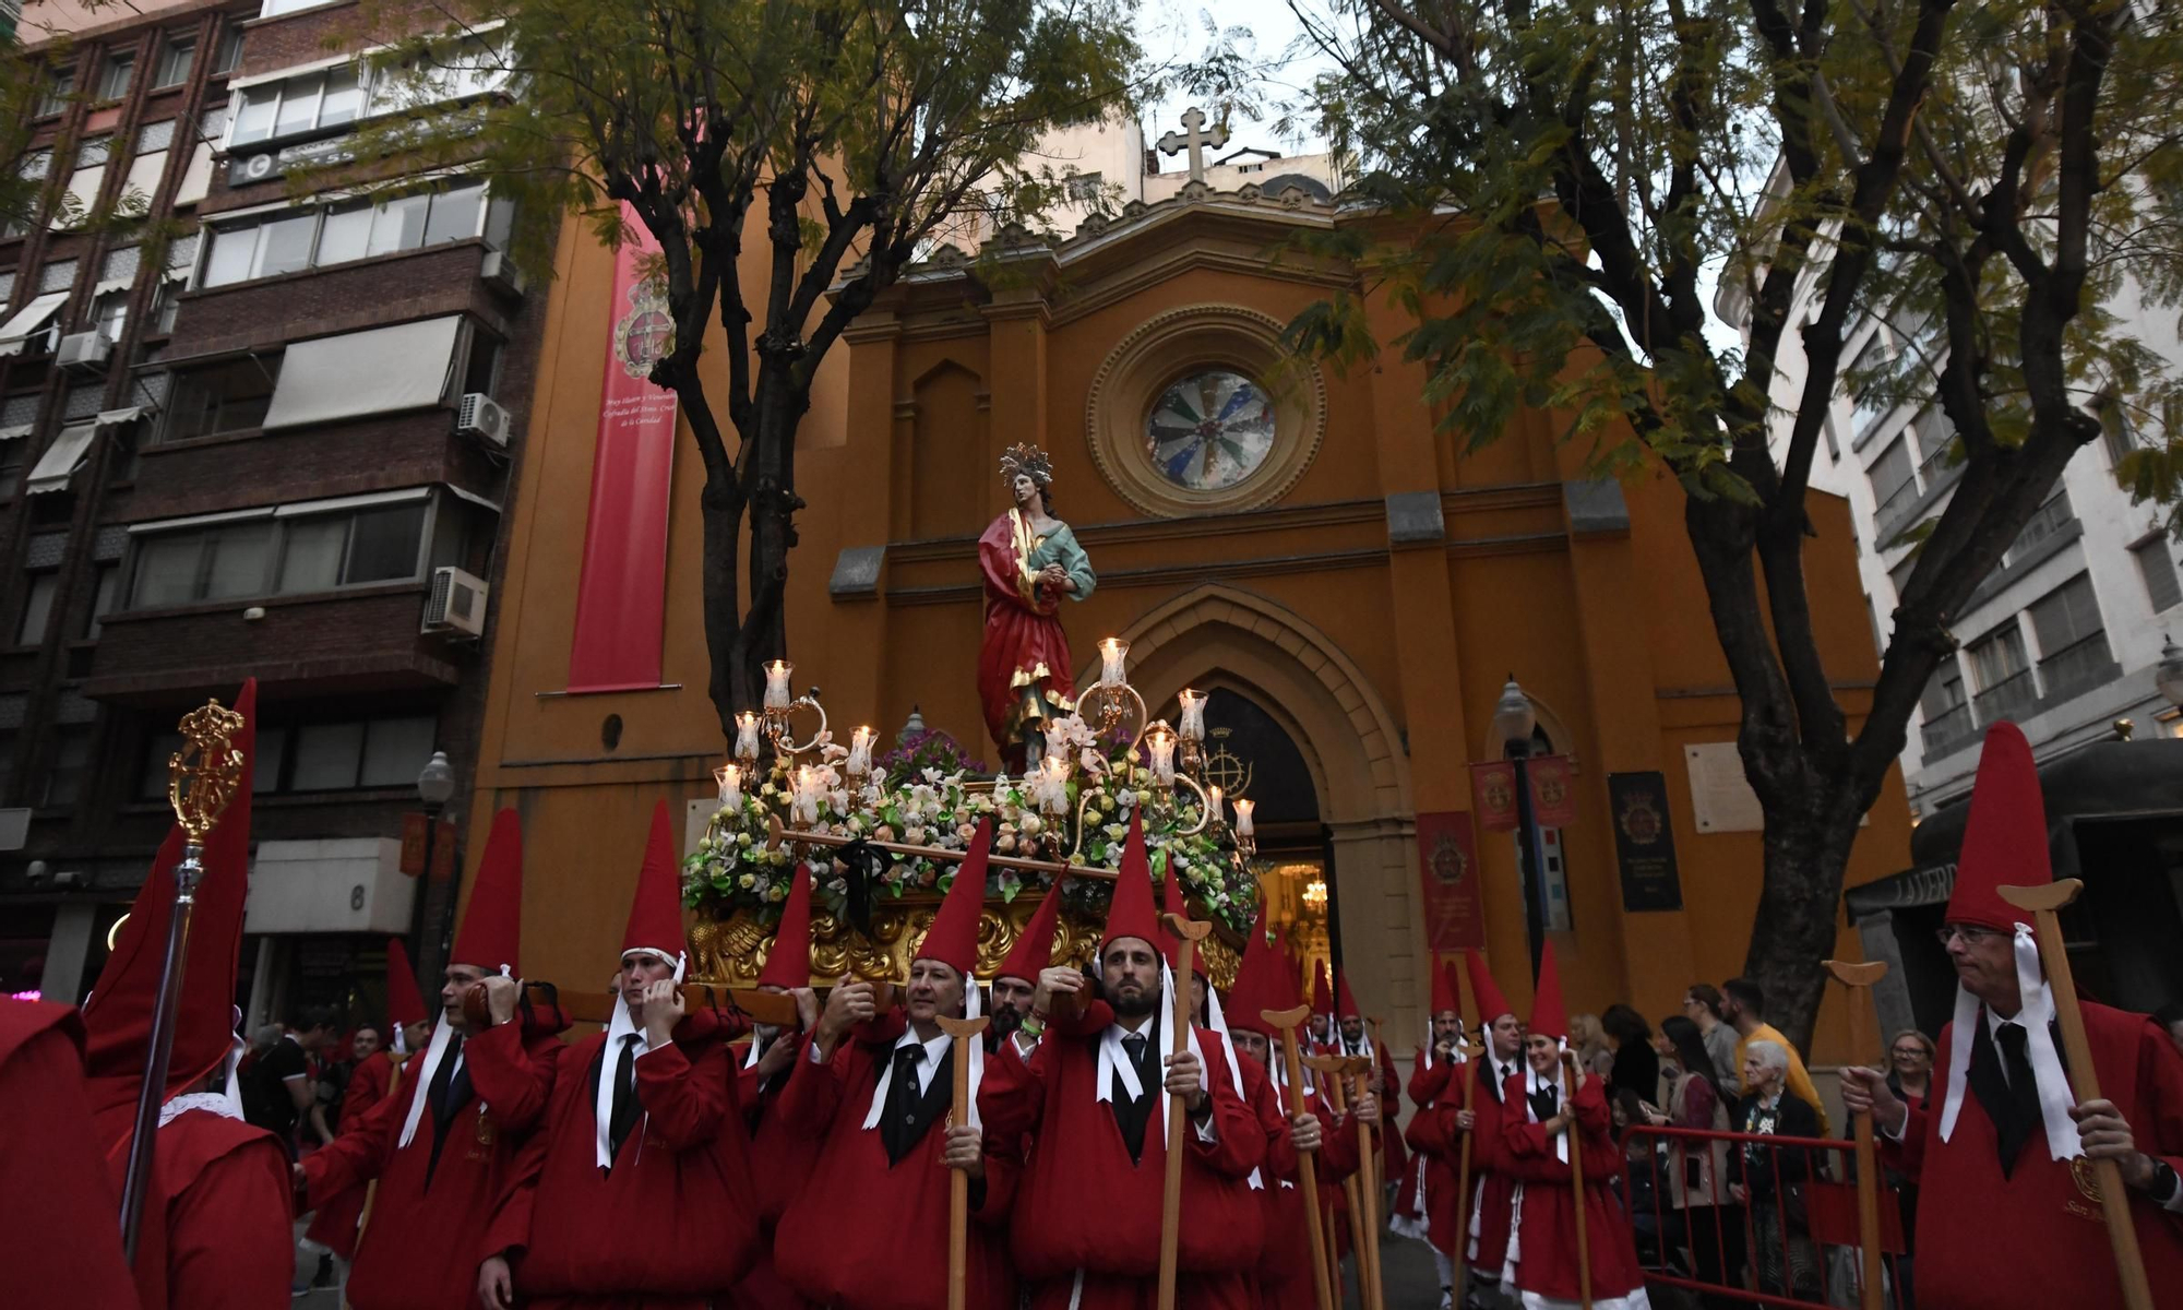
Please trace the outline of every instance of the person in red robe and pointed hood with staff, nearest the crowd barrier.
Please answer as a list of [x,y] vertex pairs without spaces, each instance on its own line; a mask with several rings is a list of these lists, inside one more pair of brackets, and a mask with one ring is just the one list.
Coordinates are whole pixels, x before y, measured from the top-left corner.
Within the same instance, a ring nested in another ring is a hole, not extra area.
[[1502,1087],[1502,1153],[1515,1177],[1515,1231],[1502,1282],[1513,1286],[1524,1310],[1576,1310],[1576,1188],[1570,1172],[1570,1133],[1583,1133],[1585,1240],[1591,1253],[1594,1310],[1646,1310],[1644,1269],[1629,1212],[1613,1192],[1613,1120],[1607,1114],[1607,1083],[1585,1076],[1570,1087],[1561,1050],[1570,1041],[1570,1011],[1561,1002],[1561,969],[1554,943],[1539,956],[1539,987],[1530,1002],[1530,1035],[1524,1039],[1524,1072]]

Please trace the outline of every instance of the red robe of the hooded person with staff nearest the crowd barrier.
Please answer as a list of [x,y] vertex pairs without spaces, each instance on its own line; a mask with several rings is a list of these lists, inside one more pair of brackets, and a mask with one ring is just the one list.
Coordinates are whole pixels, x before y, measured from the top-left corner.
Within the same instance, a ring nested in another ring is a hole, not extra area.
[[[1626,1297],[1644,1286],[1637,1264],[1637,1236],[1629,1214],[1609,1186],[1620,1168],[1613,1118],[1607,1114],[1607,1081],[1585,1079],[1570,1098],[1585,1157],[1585,1244],[1591,1253],[1591,1297]],[[1554,1140],[1543,1124],[1530,1122],[1524,1107],[1524,1074],[1502,1087],[1500,1142],[1502,1164],[1522,1186],[1517,1201],[1515,1286],[1524,1293],[1576,1301],[1576,1196],[1570,1166],[1554,1153]],[[1919,1271],[1923,1286],[1923,1269]]]

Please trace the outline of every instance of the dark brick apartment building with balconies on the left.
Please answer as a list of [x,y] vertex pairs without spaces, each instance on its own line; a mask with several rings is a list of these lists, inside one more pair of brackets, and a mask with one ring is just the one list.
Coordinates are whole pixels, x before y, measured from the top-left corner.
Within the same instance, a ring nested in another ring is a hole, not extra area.
[[46,203],[0,240],[0,987],[96,978],[175,720],[244,677],[253,1017],[343,1000],[389,934],[437,969],[454,884],[404,876],[404,817],[434,751],[467,793],[544,293],[482,181],[373,203],[290,175],[500,94],[491,61],[419,90],[351,0],[48,4],[22,31]]

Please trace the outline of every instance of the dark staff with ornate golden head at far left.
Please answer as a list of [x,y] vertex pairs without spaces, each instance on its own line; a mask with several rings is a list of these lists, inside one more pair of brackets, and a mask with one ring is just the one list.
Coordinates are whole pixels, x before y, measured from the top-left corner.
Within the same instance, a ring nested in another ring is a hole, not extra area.
[[151,1015],[151,1050],[144,1055],[144,1085],[138,1087],[135,1135],[129,1140],[129,1172],[122,1175],[122,1255],[135,1264],[144,1192],[151,1186],[159,1105],[166,1103],[166,1065],[175,1055],[175,1007],[190,950],[190,915],[196,884],[205,876],[205,838],[212,836],[227,801],[242,784],[242,751],[231,742],[242,731],[242,714],[207,701],[181,718],[181,749],[166,762],[166,803],[181,827],[181,862],[175,865],[175,908],[166,921],[166,958],[159,963],[159,996]]

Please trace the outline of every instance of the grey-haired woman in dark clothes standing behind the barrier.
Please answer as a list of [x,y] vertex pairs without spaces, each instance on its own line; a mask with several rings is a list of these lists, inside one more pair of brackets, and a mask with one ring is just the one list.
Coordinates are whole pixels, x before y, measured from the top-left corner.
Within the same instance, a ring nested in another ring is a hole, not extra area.
[[[1735,1131],[1762,1138],[1818,1138],[1818,1114],[1788,1087],[1788,1048],[1779,1041],[1744,1046],[1744,1096]],[[1740,1142],[1729,1155],[1729,1196],[1751,1207],[1751,1264],[1759,1290],[1775,1297],[1818,1299],[1818,1251],[1812,1247],[1805,1183],[1812,1155],[1803,1146]]]

